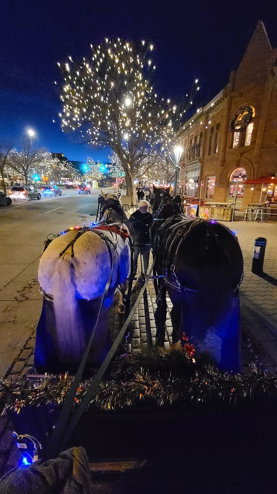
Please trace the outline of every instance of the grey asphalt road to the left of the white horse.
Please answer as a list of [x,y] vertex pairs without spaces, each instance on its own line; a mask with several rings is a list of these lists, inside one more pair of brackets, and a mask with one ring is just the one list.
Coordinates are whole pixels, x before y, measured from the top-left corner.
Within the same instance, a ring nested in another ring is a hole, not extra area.
[[0,207],[0,377],[38,322],[37,268],[47,235],[87,222],[97,209],[99,193],[97,189],[78,195],[76,190],[64,189],[61,197]]

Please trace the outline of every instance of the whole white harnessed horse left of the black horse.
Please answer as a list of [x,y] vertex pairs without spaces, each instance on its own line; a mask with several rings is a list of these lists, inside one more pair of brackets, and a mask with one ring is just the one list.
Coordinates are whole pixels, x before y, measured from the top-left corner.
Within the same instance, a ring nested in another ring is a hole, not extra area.
[[[117,199],[115,194],[102,194],[105,200]],[[119,207],[122,210],[121,206]],[[125,225],[123,226],[126,228]],[[99,230],[97,226],[95,229]],[[48,308],[45,311],[46,316],[43,316],[42,328],[39,328],[39,325],[37,328],[36,347],[38,348],[35,352],[35,365],[38,367],[49,367],[46,362],[49,358],[41,357],[41,353],[46,351],[43,347],[47,346],[49,338],[51,340],[49,345],[52,348],[49,353],[50,358],[52,352],[62,365],[74,365],[80,362],[96,321],[100,297],[104,293],[111,274],[110,294],[104,299],[89,355],[91,363],[100,363],[104,359],[104,353],[108,350],[104,351],[109,333],[107,310],[112,304],[114,290],[118,285],[122,286],[123,292],[126,289],[126,280],[130,275],[130,239],[116,232],[105,230],[102,231],[102,234],[106,236],[105,241],[94,231],[86,231],[74,242],[74,255],[71,256],[71,246],[67,249],[66,247],[77,234],[78,230],[72,230],[55,238],[43,252],[39,263],[38,282],[42,290],[53,297],[53,303],[48,303],[52,304],[52,307],[54,304],[54,318],[52,318],[54,323],[52,321],[48,325]],[[114,247],[115,244],[116,247]],[[64,249],[66,249],[65,252],[60,256]],[[111,255],[113,263],[111,263]],[[86,304],[85,301],[90,302]],[[121,312],[124,312],[123,307],[121,296]],[[47,326],[51,326],[51,329]],[[43,329],[48,334],[47,340],[41,335]],[[51,368],[51,363],[49,365]]]

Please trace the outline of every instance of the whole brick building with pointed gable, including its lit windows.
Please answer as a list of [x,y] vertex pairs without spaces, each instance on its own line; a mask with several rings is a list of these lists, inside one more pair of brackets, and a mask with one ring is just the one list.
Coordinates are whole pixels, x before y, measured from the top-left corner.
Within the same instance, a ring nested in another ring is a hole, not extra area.
[[[229,83],[178,132],[187,163],[185,195],[237,206],[260,201],[246,179],[277,175],[277,48],[259,21]],[[202,183],[202,187],[200,184]],[[262,200],[277,188],[265,185]]]

